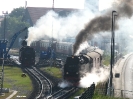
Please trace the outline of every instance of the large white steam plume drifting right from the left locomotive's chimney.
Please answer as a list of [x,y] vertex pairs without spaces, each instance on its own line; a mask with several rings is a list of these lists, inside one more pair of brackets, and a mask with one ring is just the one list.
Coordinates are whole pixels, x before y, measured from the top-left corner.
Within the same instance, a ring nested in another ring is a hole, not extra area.
[[75,37],[86,20],[89,21],[93,17],[94,14],[90,10],[78,10],[67,17],[60,17],[54,11],[49,11],[28,29],[28,45],[33,41],[45,39],[46,36],[58,38],[58,40],[66,36]]

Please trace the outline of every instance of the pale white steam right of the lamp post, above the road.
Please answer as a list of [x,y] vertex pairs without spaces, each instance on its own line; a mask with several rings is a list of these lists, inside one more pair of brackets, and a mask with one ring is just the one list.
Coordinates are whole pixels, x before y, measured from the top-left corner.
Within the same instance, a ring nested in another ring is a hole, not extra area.
[[124,51],[129,53],[133,52],[132,42],[133,42],[133,16],[131,18],[123,18],[119,21],[119,30],[115,32],[116,41],[119,44],[119,51]]

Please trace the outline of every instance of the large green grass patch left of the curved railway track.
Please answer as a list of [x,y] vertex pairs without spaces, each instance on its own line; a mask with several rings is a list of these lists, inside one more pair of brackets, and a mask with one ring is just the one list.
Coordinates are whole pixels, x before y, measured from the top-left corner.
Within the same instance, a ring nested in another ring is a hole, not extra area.
[[[32,90],[32,82],[26,74],[26,77],[21,77],[23,71],[18,67],[13,66],[5,66],[4,69],[4,87],[11,88],[13,85],[15,86],[23,86],[24,89]],[[9,83],[10,82],[10,83]]]

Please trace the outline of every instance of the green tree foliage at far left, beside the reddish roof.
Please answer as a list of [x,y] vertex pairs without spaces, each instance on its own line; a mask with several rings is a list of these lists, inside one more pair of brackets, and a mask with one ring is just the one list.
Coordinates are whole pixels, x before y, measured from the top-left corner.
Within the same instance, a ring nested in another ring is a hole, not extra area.
[[[4,20],[1,22],[0,27],[0,39],[3,39],[4,33],[5,38],[10,42],[12,36],[22,30],[25,27],[29,27],[29,23],[22,21],[24,16],[25,9],[23,7],[14,9],[10,14],[4,17]],[[5,32],[4,32],[5,31]],[[21,33],[18,38],[24,38],[27,35],[27,31]],[[17,46],[18,44],[14,44]]]

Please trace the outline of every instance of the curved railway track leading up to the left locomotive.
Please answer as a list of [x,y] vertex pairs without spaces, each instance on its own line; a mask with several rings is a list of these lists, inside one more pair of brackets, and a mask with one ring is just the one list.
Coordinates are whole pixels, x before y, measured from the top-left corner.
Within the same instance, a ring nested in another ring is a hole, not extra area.
[[25,68],[25,71],[34,77],[39,86],[34,99],[46,99],[52,94],[52,84],[41,72],[35,67]]

